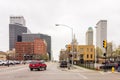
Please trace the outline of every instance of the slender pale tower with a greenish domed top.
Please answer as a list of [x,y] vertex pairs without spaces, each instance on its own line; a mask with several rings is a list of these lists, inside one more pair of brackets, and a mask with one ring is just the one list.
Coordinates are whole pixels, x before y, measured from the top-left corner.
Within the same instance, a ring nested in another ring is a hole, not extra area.
[[86,45],[93,45],[93,29],[92,27],[88,28],[86,32]]

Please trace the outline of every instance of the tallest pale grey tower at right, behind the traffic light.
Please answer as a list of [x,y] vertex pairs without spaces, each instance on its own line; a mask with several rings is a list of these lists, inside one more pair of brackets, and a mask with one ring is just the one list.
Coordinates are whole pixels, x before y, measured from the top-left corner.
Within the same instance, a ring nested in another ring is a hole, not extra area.
[[100,20],[96,24],[96,47],[101,48],[105,52],[103,40],[107,40],[107,20]]

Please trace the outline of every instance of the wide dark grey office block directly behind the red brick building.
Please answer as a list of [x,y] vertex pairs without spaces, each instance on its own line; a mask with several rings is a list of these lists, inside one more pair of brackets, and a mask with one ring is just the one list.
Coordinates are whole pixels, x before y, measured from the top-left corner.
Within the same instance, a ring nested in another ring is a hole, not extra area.
[[22,42],[32,42],[35,38],[44,39],[47,45],[47,53],[49,54],[49,58],[51,60],[51,36],[45,34],[22,34]]

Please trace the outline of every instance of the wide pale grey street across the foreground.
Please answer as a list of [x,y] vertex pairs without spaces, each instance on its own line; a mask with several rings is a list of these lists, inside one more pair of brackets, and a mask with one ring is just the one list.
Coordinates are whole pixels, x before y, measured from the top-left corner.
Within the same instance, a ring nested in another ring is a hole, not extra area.
[[58,63],[47,63],[46,71],[30,71],[28,64],[0,69],[0,80],[120,80],[120,73],[76,68],[61,69]]

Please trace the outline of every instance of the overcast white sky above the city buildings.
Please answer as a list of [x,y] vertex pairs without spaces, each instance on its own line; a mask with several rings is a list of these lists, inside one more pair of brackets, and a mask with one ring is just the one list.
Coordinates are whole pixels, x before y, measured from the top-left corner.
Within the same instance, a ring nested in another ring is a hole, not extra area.
[[[58,59],[59,51],[71,42],[73,28],[79,44],[85,44],[88,27],[99,20],[108,21],[108,41],[120,44],[120,0],[0,0],[0,51],[9,49],[9,17],[24,16],[32,33],[52,37],[52,51]],[[95,44],[95,35],[94,35]]]

